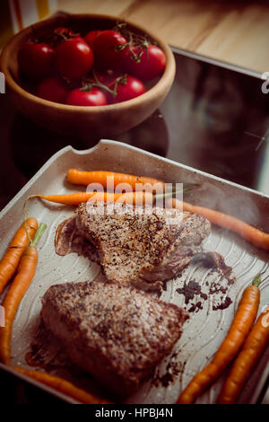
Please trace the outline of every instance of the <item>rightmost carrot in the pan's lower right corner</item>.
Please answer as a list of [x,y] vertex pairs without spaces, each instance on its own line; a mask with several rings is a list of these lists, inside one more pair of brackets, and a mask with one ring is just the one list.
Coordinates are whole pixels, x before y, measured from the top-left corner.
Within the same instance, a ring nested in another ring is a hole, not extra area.
[[262,312],[223,383],[218,403],[234,403],[269,342],[269,307]]

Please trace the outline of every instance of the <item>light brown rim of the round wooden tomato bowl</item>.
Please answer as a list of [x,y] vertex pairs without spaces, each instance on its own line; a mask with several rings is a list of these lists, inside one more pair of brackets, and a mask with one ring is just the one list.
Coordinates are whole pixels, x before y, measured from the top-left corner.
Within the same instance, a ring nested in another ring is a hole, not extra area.
[[[13,45],[13,41],[16,40],[18,37],[22,37],[23,33],[26,33],[30,30],[30,28],[32,26],[38,28],[38,27],[42,27],[45,26],[45,23],[52,23],[54,21],[57,21],[59,19],[68,19],[71,20],[72,19],[79,19],[79,18],[91,18],[91,19],[103,19],[103,20],[108,20],[108,21],[120,21],[120,22],[126,22],[127,24],[133,26],[135,29],[137,29],[138,31],[143,31],[144,33],[146,33],[147,35],[149,35],[152,40],[157,41],[158,45],[161,47],[161,49],[164,51],[165,56],[166,56],[166,67],[165,70],[163,72],[163,74],[161,75],[161,78],[159,79],[159,81],[157,82],[157,84],[153,85],[152,88],[150,88],[147,92],[144,92],[142,95],[139,95],[138,97],[135,97],[131,100],[127,100],[127,101],[122,101],[122,102],[118,102],[116,104],[108,104],[108,105],[103,105],[103,106],[73,106],[73,105],[69,105],[69,104],[63,104],[60,102],[55,102],[55,101],[48,101],[48,100],[44,100],[40,97],[38,97],[37,95],[34,95],[28,91],[26,91],[25,89],[22,88],[22,86],[20,84],[17,84],[15,82],[15,80],[13,79],[13,76],[10,72],[10,70],[8,69],[8,63],[5,61],[5,57],[7,55],[7,53],[9,52],[10,48]],[[147,100],[152,98],[152,96],[154,97],[154,94],[157,94],[160,90],[163,84],[169,85],[171,83],[171,79],[173,82],[174,79],[174,75],[175,75],[175,69],[176,69],[176,64],[175,64],[175,59],[173,57],[173,53],[171,51],[171,49],[169,48],[169,45],[167,44],[166,41],[161,40],[158,36],[154,35],[152,33],[152,31],[146,31],[143,26],[136,24],[134,22],[131,22],[129,20],[126,20],[125,18],[121,18],[119,16],[112,16],[112,15],[107,15],[107,14],[95,14],[95,13],[66,13],[65,15],[59,15],[59,16],[55,16],[52,18],[48,18],[46,20],[34,23],[34,25],[30,25],[26,28],[24,28],[22,31],[18,32],[17,34],[15,34],[13,36],[13,38],[11,40],[9,40],[7,42],[7,44],[5,44],[1,57],[0,57],[0,67],[1,67],[1,71],[4,73],[4,77],[5,77],[5,82],[6,84],[17,94],[26,97],[29,101],[32,101],[34,103],[37,103],[39,105],[44,105],[46,107],[50,107],[53,108],[55,110],[65,110],[67,112],[72,111],[72,110],[76,110],[76,111],[83,111],[83,112],[89,112],[91,110],[91,112],[98,114],[101,111],[107,112],[108,110],[121,110],[121,109],[126,109],[126,105],[135,105],[135,104],[139,104],[142,100]],[[170,79],[171,78],[171,79]]]

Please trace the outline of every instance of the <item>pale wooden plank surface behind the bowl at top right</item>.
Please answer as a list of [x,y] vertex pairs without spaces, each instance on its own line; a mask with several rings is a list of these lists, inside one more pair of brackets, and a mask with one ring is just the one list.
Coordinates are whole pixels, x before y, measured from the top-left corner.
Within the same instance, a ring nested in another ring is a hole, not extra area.
[[158,33],[170,45],[269,71],[269,2],[220,0],[58,0],[70,13],[124,17]]

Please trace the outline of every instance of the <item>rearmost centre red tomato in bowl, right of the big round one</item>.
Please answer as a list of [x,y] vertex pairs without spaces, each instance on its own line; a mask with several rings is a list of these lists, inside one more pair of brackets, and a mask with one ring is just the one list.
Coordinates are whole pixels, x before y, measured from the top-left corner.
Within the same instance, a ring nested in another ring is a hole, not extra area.
[[126,43],[126,38],[117,31],[101,31],[93,41],[96,64],[101,68],[107,69],[118,69],[122,67],[124,57],[127,53]]

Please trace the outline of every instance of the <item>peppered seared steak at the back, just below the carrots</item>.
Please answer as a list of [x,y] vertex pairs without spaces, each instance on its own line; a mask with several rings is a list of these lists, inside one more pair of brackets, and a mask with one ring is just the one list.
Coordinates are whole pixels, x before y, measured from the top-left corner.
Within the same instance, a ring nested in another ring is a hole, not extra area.
[[[160,290],[202,250],[211,225],[201,215],[178,209],[152,208],[151,212],[123,204],[88,202],[56,233],[56,252],[82,251],[84,239],[90,259],[100,262],[110,281],[132,283],[144,290]],[[80,247],[78,245],[81,245]],[[96,251],[92,251],[92,245]]]

